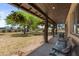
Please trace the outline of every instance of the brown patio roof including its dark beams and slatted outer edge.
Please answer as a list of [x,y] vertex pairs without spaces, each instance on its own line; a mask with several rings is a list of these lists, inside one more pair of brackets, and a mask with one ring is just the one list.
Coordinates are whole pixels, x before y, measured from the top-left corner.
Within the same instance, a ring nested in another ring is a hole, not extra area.
[[42,18],[48,18],[52,24],[64,23],[70,3],[12,3],[25,11]]

